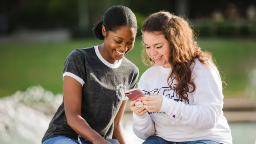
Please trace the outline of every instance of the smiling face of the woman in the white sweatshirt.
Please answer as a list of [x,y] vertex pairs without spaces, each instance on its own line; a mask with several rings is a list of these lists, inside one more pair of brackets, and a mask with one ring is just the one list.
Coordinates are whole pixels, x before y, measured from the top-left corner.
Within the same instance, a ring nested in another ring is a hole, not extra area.
[[171,45],[160,32],[143,32],[146,53],[158,66],[170,68]]

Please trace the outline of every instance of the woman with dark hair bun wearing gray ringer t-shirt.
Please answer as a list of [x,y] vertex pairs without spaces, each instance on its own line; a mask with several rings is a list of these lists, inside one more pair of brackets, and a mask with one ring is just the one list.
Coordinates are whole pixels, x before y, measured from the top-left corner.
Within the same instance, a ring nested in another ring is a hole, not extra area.
[[[78,135],[93,144],[124,144],[124,91],[134,88],[139,70],[124,57],[133,49],[137,20],[125,6],[109,8],[93,28],[100,46],[75,49],[63,70],[63,102],[50,121],[43,144],[77,144]],[[104,137],[104,138],[103,138]]]

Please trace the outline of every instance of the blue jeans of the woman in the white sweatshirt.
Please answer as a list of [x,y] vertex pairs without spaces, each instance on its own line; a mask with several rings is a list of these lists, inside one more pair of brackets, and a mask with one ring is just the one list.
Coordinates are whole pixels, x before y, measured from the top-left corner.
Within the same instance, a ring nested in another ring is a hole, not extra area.
[[210,140],[198,140],[198,141],[183,141],[183,142],[174,142],[174,141],[166,141],[165,139],[159,136],[151,136],[146,139],[143,144],[219,144],[215,141]]

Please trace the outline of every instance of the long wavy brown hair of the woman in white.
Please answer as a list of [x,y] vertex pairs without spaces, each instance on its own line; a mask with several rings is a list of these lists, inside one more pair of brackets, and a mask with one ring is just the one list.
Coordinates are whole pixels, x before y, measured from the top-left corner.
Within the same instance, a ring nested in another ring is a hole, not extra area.
[[[192,80],[191,64],[195,63],[195,59],[201,63],[215,66],[212,55],[209,52],[203,52],[196,43],[196,35],[189,23],[183,17],[175,16],[169,12],[157,12],[147,17],[142,26],[143,32],[160,32],[165,35],[166,40],[171,44],[171,52],[169,63],[172,71],[167,79],[171,89],[176,90],[177,96],[181,100],[187,101],[188,92],[195,91],[195,83]],[[154,60],[148,57],[145,48],[142,51],[143,62],[148,62],[153,66]],[[216,66],[215,66],[216,67]],[[173,80],[176,79],[177,86],[172,88]]]

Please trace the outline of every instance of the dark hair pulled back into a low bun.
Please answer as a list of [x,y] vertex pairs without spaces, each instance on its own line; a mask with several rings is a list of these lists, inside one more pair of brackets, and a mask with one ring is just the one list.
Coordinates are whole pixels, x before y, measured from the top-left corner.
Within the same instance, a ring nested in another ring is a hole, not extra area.
[[112,6],[103,15],[103,21],[96,24],[93,28],[93,35],[104,40],[102,35],[102,25],[105,26],[106,31],[115,32],[120,26],[129,26],[131,28],[136,28],[137,30],[137,20],[135,14],[125,6]]

